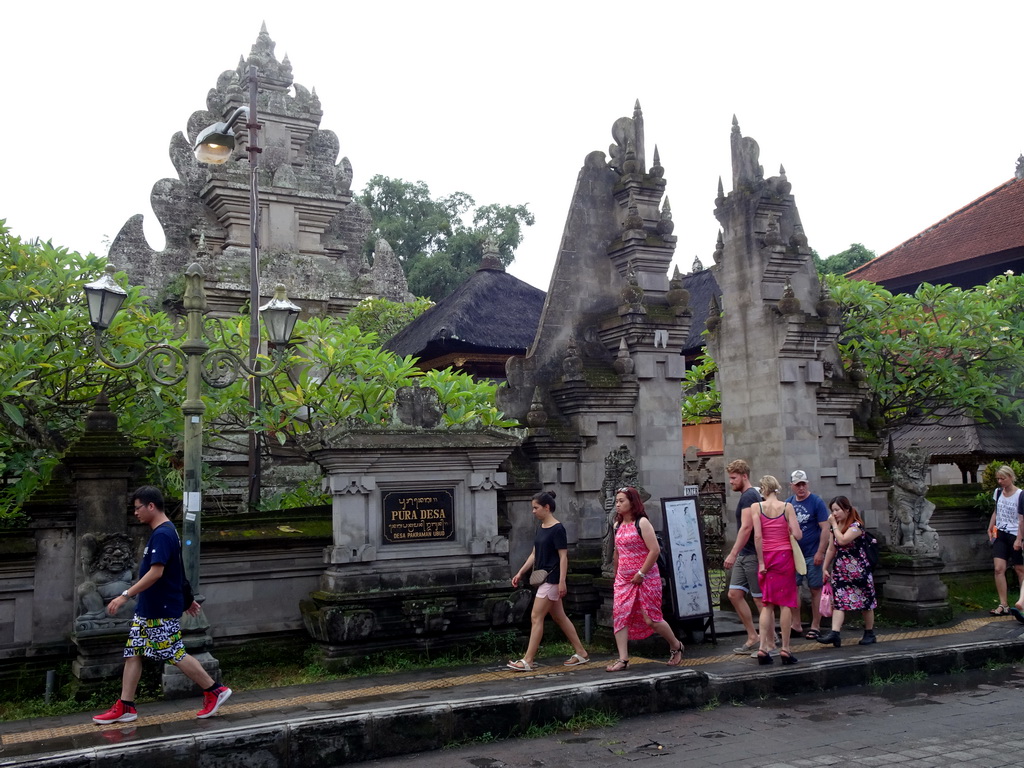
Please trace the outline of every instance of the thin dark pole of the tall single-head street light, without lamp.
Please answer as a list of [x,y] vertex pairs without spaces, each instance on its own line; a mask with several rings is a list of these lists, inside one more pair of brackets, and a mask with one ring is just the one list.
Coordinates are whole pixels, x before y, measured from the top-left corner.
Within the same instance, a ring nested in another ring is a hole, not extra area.
[[[256,108],[259,91],[259,69],[249,68],[249,367],[258,371],[256,355],[259,353],[259,120]],[[260,378],[249,379],[249,406],[253,413],[261,400]],[[249,508],[259,504],[261,490],[259,433],[249,430]]]

